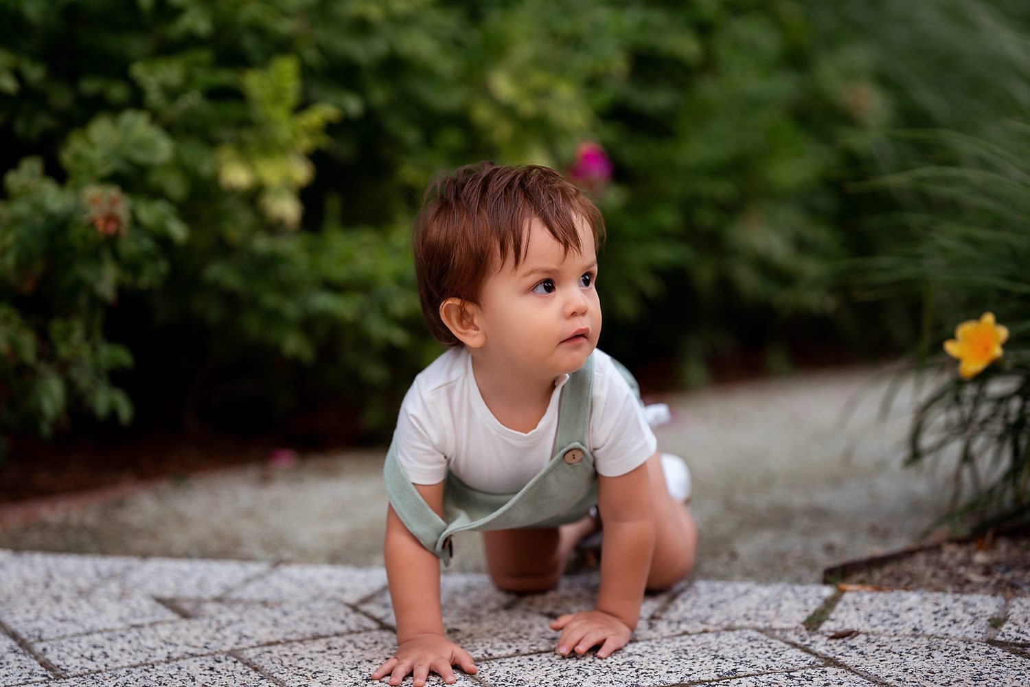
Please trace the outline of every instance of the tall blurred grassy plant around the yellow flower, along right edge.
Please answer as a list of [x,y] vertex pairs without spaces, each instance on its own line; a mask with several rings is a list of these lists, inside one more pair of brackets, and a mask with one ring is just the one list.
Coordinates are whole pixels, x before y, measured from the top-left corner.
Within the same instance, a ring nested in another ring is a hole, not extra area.
[[[946,513],[934,526],[983,534],[1026,522],[1030,11],[1011,2],[937,2],[855,4],[847,13],[879,27],[879,79],[904,94],[895,99],[896,121],[920,125],[873,141],[886,173],[851,187],[891,202],[859,224],[872,254],[845,262],[862,298],[920,304],[911,369],[919,384],[933,386],[913,417],[907,462],[952,470]],[[1000,360],[965,380],[941,344],[985,311],[1009,339]]]

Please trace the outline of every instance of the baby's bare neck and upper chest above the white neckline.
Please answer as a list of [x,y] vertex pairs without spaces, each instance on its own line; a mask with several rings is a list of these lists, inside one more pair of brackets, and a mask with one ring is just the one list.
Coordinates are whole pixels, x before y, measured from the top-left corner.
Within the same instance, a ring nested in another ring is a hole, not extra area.
[[553,379],[528,377],[501,365],[472,356],[472,372],[479,394],[493,417],[509,430],[527,434],[547,412],[554,392]]

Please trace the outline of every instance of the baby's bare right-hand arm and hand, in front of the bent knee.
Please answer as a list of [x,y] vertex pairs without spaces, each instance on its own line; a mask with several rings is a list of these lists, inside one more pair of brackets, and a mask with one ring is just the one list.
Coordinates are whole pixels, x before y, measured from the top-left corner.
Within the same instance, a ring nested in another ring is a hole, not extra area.
[[640,619],[641,600],[654,553],[654,515],[651,509],[647,462],[618,477],[597,476],[597,509],[605,523],[605,553],[600,558],[600,591],[593,611],[558,617],[553,629],[562,629],[558,653],[586,653],[600,645],[605,658],[629,641]]

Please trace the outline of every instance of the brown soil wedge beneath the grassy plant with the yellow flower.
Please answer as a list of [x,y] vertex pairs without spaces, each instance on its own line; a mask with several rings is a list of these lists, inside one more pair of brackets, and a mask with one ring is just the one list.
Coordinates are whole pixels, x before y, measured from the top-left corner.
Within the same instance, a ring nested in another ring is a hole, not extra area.
[[1030,596],[1030,531],[942,542],[845,563],[827,570],[825,580],[885,589]]

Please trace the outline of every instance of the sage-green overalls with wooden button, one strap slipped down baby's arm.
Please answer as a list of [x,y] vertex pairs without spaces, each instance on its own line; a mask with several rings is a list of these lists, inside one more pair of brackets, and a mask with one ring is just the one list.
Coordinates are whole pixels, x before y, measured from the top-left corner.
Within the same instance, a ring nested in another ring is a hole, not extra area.
[[[612,362],[640,397],[637,380]],[[558,431],[551,461],[516,493],[487,493],[468,486],[448,471],[444,482],[444,515],[422,500],[397,458],[396,436],[386,453],[383,477],[394,512],[422,546],[450,564],[451,536],[515,527],[554,527],[575,522],[597,503],[597,474],[587,448],[593,354],[569,376],[561,388]]]

